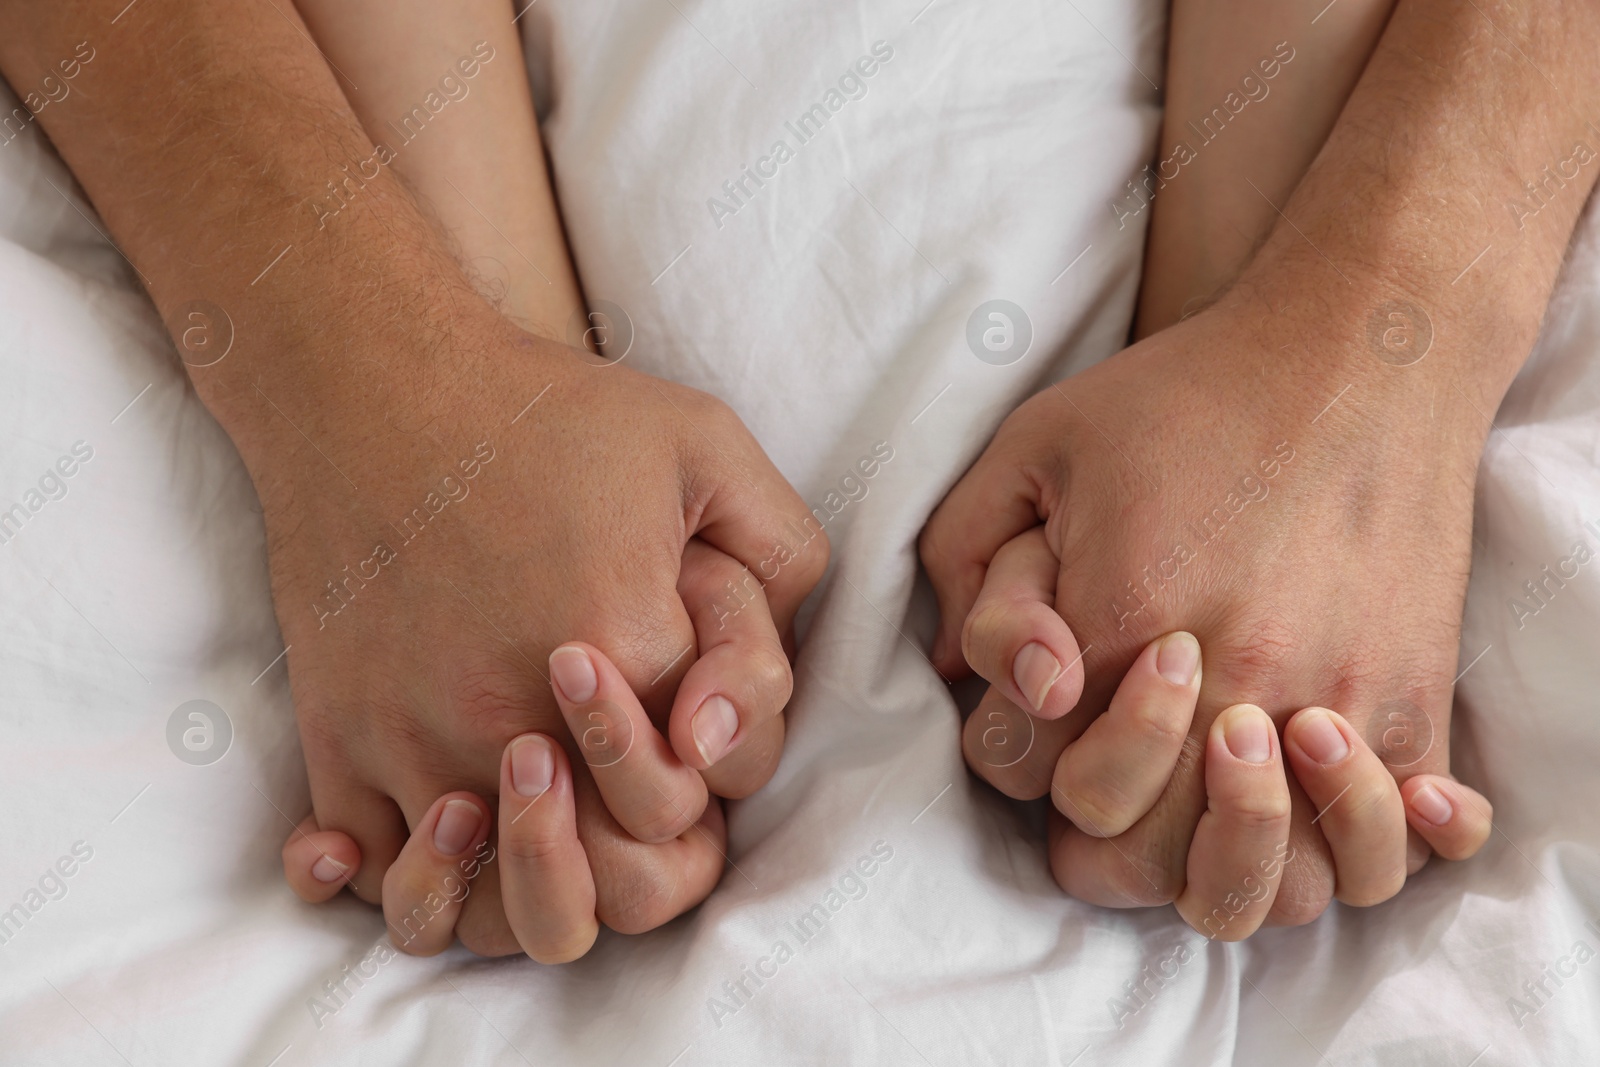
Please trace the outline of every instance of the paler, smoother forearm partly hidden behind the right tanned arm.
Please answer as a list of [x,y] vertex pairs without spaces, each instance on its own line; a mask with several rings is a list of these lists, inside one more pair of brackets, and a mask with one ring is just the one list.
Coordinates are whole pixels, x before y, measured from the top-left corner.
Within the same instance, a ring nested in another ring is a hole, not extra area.
[[1136,336],[1222,291],[1333,130],[1394,0],[1174,0]]

